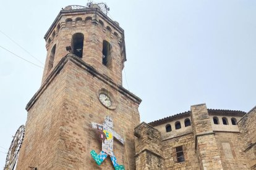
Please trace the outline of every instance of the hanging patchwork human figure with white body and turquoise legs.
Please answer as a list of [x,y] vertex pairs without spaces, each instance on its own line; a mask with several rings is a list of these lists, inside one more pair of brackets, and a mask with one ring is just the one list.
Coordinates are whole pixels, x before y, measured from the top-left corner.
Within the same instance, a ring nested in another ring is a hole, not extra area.
[[98,124],[92,122],[92,128],[96,129],[97,134],[102,141],[102,150],[99,154],[95,152],[95,150],[91,151],[91,155],[93,160],[96,161],[98,165],[103,163],[106,157],[110,156],[111,161],[114,165],[114,169],[122,170],[124,169],[123,165],[117,164],[116,156],[114,156],[113,152],[113,138],[115,137],[119,142],[124,145],[124,139],[122,139],[119,134],[117,134],[113,129],[113,119],[109,116],[105,117],[105,122],[103,124]]

